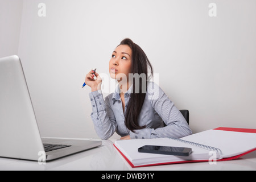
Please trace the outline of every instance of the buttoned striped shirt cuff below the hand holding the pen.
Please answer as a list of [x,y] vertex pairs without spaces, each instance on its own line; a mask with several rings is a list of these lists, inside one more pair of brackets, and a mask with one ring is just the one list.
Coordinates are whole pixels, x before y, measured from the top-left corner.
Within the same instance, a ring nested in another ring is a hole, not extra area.
[[90,102],[92,104],[93,113],[98,113],[102,110],[106,110],[103,94],[100,90],[89,93]]

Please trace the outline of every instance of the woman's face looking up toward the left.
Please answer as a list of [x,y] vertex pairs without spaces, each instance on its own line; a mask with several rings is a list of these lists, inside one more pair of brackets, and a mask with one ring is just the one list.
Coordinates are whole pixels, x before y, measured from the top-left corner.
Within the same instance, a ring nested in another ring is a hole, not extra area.
[[115,80],[123,80],[123,77],[126,76],[128,80],[129,73],[131,73],[131,54],[131,48],[127,45],[115,48],[109,61],[110,77]]

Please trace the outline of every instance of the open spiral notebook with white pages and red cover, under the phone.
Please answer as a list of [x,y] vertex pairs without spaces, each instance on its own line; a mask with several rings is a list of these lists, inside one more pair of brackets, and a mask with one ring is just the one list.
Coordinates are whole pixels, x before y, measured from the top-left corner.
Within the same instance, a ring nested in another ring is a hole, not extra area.
[[[117,140],[115,148],[131,167],[156,166],[162,164],[209,162],[240,158],[256,150],[256,129],[233,129],[220,127],[180,139],[157,138]],[[189,156],[147,154],[138,152],[144,145],[175,146],[192,148]]]

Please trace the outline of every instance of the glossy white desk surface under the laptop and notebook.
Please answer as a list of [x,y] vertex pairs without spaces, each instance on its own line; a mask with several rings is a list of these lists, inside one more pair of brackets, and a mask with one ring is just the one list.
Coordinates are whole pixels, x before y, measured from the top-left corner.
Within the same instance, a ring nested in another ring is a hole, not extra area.
[[241,159],[217,162],[216,165],[204,163],[170,164],[163,166],[131,168],[113,146],[114,140],[102,140],[102,146],[80,152],[65,158],[39,165],[27,160],[0,158],[0,170],[256,170],[256,151]]

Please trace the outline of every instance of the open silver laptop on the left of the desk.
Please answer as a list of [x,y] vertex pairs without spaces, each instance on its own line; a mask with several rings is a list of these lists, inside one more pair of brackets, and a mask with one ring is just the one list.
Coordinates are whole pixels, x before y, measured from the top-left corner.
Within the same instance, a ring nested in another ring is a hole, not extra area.
[[19,57],[0,59],[0,157],[44,162],[101,144],[41,138]]

